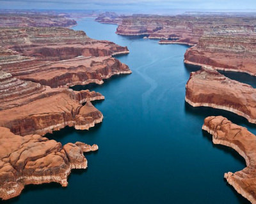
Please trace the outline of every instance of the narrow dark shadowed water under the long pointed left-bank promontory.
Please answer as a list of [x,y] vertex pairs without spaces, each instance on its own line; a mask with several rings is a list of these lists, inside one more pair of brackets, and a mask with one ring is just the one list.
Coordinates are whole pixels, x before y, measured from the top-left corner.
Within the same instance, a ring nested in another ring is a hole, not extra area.
[[122,78],[125,77],[129,77],[128,75],[114,75],[110,78],[106,78],[104,79],[104,83],[103,84],[96,84],[96,83],[92,83],[92,84],[86,84],[86,85],[74,85],[73,87],[70,87],[70,89],[73,89],[74,91],[81,91],[81,90],[86,90],[89,89],[90,91],[93,91],[93,89],[97,88],[97,87],[106,87],[107,85],[109,85],[109,82],[113,83],[117,80],[122,80]]

